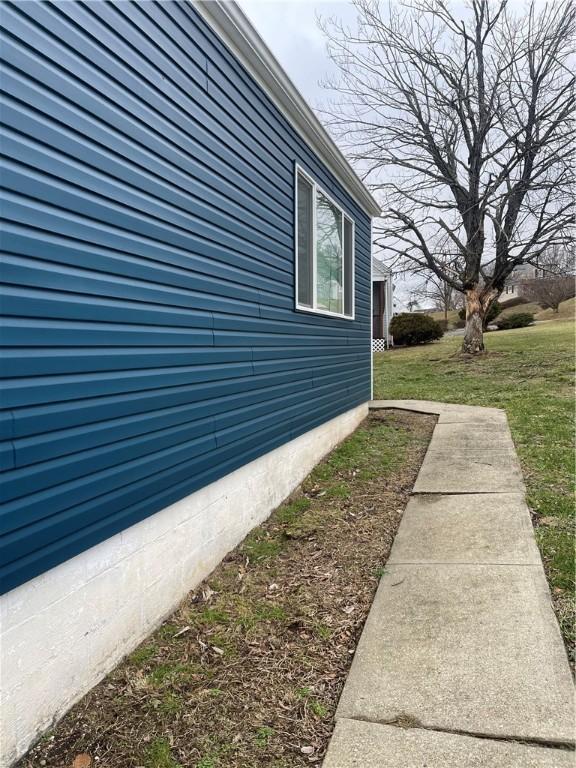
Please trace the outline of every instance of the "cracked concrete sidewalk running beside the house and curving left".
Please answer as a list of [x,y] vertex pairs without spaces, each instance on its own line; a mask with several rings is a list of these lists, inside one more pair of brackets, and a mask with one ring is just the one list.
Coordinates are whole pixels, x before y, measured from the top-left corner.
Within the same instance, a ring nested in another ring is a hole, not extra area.
[[503,411],[438,414],[324,768],[574,766],[573,683]]

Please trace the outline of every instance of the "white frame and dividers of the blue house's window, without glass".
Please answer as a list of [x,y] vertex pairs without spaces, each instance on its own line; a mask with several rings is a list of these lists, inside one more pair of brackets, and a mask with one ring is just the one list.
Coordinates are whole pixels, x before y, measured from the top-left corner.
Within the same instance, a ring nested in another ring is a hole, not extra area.
[[[312,187],[312,306],[306,307],[302,304],[298,304],[298,174],[301,174],[304,179]],[[346,270],[344,269],[344,219],[352,225],[352,314],[345,315],[344,312],[331,312],[328,309],[319,309],[316,306],[316,265],[317,265],[317,253],[316,253],[316,199],[317,193],[320,192],[338,211],[340,211],[342,219],[342,308],[345,304],[346,296]],[[302,166],[295,164],[294,168],[294,251],[295,251],[295,271],[294,271],[294,308],[298,312],[309,312],[313,315],[325,315],[326,317],[337,317],[341,320],[354,320],[356,315],[356,222],[349,216],[346,211],[339,205],[334,198],[329,195],[317,182],[310,176],[310,174],[302,168]]]

